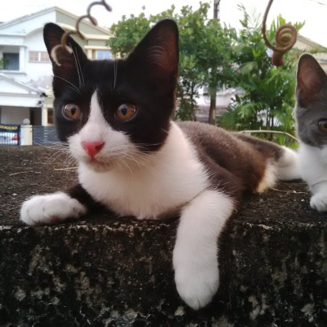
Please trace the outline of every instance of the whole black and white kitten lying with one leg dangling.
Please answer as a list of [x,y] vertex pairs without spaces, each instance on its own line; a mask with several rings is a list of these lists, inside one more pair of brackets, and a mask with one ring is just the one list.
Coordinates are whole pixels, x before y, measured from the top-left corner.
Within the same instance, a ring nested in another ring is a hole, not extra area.
[[[63,30],[44,27],[48,52]],[[175,282],[194,309],[219,285],[217,240],[246,192],[298,178],[286,148],[201,123],[175,123],[178,30],[160,21],[126,60],[90,61],[68,40],[53,62],[59,137],[78,162],[79,183],[34,196],[21,207],[29,225],[79,218],[101,203],[119,216],[179,215]]]

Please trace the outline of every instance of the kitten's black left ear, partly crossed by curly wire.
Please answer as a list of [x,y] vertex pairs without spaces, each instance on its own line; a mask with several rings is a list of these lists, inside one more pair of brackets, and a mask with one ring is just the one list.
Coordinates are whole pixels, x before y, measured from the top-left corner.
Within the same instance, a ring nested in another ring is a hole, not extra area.
[[73,53],[69,53],[61,46],[56,49],[58,65],[52,58],[51,53],[55,46],[61,44],[61,37],[65,31],[56,24],[48,23],[43,29],[43,39],[48,50],[55,75],[61,75],[61,73],[66,74],[67,69],[77,69],[77,65],[82,65],[87,59],[85,53],[83,52],[80,45],[74,41],[70,36],[67,38],[67,45],[72,49]]

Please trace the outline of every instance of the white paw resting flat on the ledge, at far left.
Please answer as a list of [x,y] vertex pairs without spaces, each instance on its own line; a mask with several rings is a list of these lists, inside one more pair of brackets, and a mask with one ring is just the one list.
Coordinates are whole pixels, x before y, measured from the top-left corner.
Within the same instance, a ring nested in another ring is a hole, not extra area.
[[20,209],[20,220],[28,225],[56,224],[68,218],[86,214],[86,207],[68,194],[37,195],[25,201]]

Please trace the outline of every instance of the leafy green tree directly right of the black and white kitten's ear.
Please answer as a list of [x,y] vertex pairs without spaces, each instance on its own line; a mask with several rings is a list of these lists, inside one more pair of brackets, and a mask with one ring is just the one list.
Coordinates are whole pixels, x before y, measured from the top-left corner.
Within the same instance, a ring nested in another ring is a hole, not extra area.
[[[230,58],[236,31],[222,27],[216,19],[208,18],[209,8],[207,3],[200,3],[200,8],[194,12],[190,6],[183,7],[181,15],[178,16],[178,26],[181,60],[186,61],[185,64],[181,61],[181,76],[189,77],[188,85],[193,86],[196,83],[196,87],[204,86],[208,90],[212,109],[216,108],[216,90],[230,84],[233,72]],[[193,74],[188,75],[190,71]],[[196,87],[189,89],[193,92]],[[185,92],[185,87],[183,90]],[[181,112],[185,112],[181,103],[180,107]],[[195,108],[190,105],[191,112],[194,112]]]

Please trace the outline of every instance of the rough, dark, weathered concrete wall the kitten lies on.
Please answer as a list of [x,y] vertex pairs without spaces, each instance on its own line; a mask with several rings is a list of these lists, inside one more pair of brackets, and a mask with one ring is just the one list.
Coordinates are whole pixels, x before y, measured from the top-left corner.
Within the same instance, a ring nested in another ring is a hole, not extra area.
[[174,285],[177,219],[18,220],[26,197],[74,181],[56,152],[0,147],[0,326],[327,326],[327,214],[303,182],[244,201],[220,244],[219,292],[193,311]]

